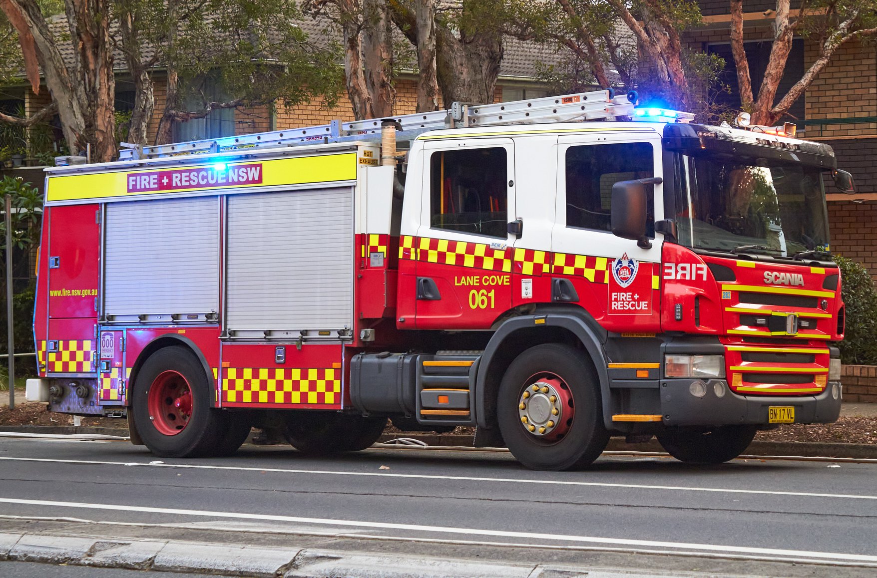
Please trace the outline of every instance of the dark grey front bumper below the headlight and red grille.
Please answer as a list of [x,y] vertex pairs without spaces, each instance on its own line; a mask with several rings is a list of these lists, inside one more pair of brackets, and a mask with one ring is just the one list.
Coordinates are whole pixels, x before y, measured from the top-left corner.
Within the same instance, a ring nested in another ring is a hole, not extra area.
[[[840,382],[828,382],[816,396],[740,396],[727,387],[725,380],[709,380],[705,396],[691,395],[691,379],[660,380],[660,407],[664,425],[768,425],[771,406],[795,408],[795,424],[829,424],[840,415]],[[724,382],[724,396],[718,397],[713,386]],[[838,398],[832,395],[838,386]]]

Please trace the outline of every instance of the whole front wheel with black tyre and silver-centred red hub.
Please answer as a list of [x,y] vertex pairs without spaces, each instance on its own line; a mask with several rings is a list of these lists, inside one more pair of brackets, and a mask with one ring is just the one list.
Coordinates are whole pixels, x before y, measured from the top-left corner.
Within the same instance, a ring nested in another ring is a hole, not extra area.
[[518,355],[503,375],[496,413],[512,455],[531,469],[586,467],[609,442],[594,367],[571,346],[547,343]]

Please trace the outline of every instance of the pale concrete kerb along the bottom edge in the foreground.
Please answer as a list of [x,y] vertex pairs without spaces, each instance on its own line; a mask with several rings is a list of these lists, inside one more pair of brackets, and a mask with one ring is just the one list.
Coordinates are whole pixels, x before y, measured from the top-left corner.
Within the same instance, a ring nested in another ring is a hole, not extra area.
[[0,560],[266,578],[646,578],[635,572],[398,553],[11,532],[0,532]]

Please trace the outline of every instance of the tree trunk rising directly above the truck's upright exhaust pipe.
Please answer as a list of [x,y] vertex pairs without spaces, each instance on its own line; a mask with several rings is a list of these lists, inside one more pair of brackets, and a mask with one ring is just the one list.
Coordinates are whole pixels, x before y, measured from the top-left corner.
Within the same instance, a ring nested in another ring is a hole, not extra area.
[[386,0],[362,2],[362,53],[372,110],[367,118],[393,116],[393,37]]

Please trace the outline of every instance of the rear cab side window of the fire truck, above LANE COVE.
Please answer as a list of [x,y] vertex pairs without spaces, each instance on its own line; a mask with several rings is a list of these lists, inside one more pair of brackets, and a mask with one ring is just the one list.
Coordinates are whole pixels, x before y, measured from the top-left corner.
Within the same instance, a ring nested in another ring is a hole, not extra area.
[[432,153],[431,227],[505,239],[507,163],[502,147]]

